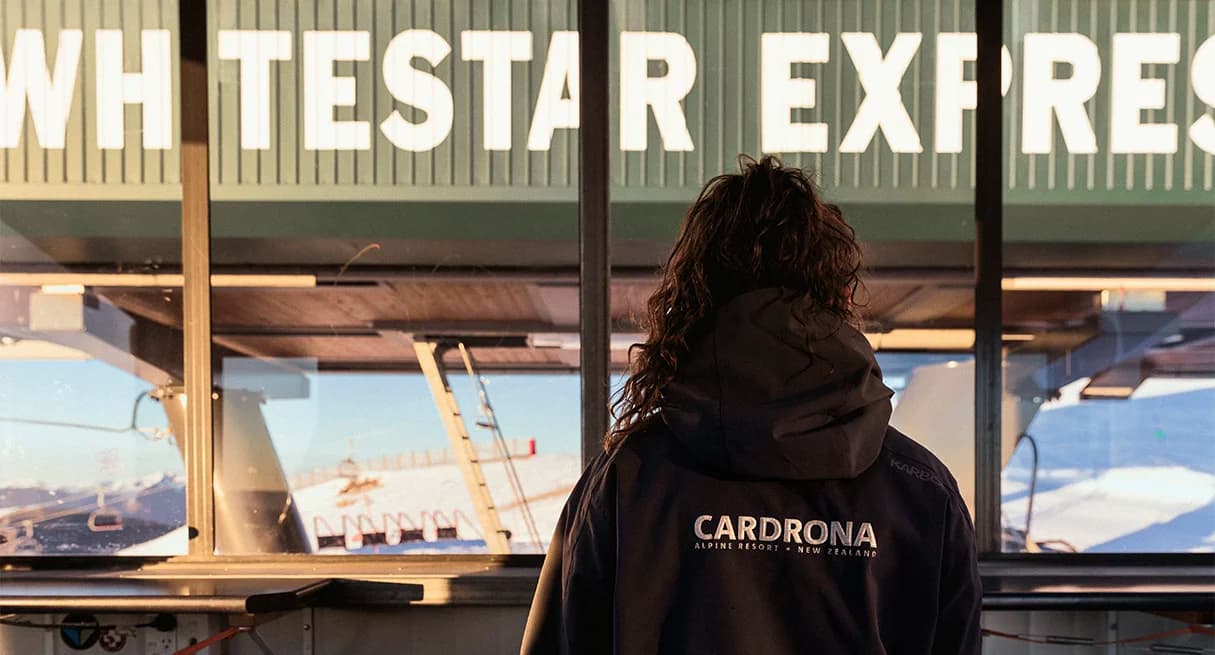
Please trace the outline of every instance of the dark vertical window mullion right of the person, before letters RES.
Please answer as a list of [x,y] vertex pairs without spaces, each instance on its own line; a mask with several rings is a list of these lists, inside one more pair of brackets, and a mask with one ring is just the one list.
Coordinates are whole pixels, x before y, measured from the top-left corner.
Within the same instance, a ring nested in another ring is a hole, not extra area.
[[974,0],[978,40],[974,139],[974,530],[978,550],[1001,550],[1000,401],[1004,385],[1004,0]]

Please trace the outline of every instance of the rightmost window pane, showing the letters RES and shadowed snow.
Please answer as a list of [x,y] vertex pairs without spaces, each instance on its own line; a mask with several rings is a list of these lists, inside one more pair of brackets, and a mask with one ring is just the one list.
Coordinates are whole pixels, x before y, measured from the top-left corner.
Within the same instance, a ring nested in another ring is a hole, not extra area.
[[1005,550],[1215,549],[1213,34],[1210,2],[1011,5]]

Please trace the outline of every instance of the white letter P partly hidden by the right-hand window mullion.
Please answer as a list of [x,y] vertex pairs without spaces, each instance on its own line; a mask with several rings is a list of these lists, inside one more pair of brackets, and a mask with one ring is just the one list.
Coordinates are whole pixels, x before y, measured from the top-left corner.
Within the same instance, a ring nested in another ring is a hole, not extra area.
[[[978,107],[978,86],[963,77],[966,62],[978,58],[978,39],[966,32],[943,32],[937,35],[937,95],[933,149],[962,152],[962,112]],[[1012,86],[1012,55],[1000,47],[1000,95]]]

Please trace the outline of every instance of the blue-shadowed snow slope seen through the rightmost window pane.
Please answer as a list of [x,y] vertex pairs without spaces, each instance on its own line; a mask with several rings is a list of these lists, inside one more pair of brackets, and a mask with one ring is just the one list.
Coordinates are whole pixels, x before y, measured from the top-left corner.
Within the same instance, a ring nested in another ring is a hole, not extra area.
[[[1080,552],[1215,550],[1215,389],[1146,383],[1130,400],[1042,407],[1030,536]],[[1004,524],[1025,523],[1032,458],[1018,448],[1004,473]]]

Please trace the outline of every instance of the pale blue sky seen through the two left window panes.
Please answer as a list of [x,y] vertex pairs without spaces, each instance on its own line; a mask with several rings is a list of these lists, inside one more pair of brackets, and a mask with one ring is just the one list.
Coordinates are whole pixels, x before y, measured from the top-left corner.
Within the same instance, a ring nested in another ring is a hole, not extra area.
[[[535,437],[542,452],[577,452],[578,378],[572,374],[487,376],[490,397],[508,439]],[[420,374],[309,374],[310,394],[270,400],[262,411],[288,473],[332,465],[354,442],[357,458],[447,446],[439,412]],[[452,386],[469,424],[476,397],[464,374]],[[0,365],[0,418],[122,428],[148,385],[97,361],[6,361]],[[157,402],[143,401],[137,425],[164,428]],[[482,430],[474,439],[486,439]],[[0,422],[0,486],[94,484],[181,472],[168,441],[141,433]]]

